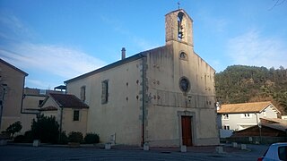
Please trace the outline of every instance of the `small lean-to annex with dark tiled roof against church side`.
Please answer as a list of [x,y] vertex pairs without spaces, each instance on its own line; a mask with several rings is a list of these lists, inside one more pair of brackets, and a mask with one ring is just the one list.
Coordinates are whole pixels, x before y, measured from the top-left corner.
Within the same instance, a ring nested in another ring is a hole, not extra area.
[[60,131],[68,134],[71,131],[80,131],[83,135],[87,131],[88,108],[78,97],[50,93],[40,106],[40,114],[55,116],[60,125]]

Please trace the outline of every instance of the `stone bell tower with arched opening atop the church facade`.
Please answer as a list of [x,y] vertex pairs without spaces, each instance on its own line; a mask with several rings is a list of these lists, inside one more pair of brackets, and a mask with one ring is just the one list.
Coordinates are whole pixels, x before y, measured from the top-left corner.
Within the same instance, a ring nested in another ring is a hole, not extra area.
[[178,9],[165,15],[165,41],[178,41],[189,46],[194,46],[193,42],[193,20],[188,14]]

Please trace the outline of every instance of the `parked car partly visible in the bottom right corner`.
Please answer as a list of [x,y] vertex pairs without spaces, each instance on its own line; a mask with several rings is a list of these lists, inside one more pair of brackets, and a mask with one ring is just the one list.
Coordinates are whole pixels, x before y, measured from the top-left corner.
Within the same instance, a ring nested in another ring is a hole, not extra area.
[[266,151],[263,157],[259,157],[258,161],[266,160],[283,160],[287,161],[287,142],[274,143]]

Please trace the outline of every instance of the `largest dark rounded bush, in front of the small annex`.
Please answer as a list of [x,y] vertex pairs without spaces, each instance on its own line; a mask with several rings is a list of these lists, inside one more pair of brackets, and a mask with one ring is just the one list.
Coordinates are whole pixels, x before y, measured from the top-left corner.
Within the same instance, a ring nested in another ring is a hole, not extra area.
[[37,121],[33,119],[31,125],[33,140],[40,140],[41,142],[57,143],[59,137],[59,124],[55,116],[39,115]]

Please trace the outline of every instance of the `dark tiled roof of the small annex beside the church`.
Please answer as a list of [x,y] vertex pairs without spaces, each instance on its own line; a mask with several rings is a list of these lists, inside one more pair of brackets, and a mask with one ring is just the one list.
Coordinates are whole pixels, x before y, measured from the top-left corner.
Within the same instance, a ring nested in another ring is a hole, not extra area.
[[78,97],[67,94],[50,93],[49,96],[57,102],[57,105],[64,108],[89,108]]

